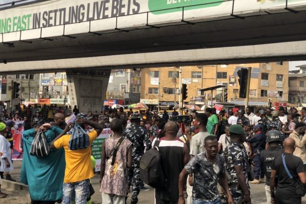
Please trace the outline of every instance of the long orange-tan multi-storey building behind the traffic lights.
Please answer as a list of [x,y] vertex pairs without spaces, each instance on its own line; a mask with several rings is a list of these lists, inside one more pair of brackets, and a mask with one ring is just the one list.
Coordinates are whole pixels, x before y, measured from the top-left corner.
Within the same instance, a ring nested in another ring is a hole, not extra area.
[[[210,100],[222,101],[227,89],[228,102],[244,104],[244,98],[239,98],[239,83],[237,71],[243,67],[252,67],[249,105],[267,106],[268,99],[273,103],[288,101],[288,62],[231,64],[212,66],[182,67],[181,83],[187,84],[188,97],[185,102],[198,105],[210,104]],[[173,105],[179,102],[180,68],[161,67],[146,68],[141,72],[141,101],[158,105],[167,103]],[[225,86],[203,94],[200,89],[217,85]],[[171,104],[172,103],[172,104]]]

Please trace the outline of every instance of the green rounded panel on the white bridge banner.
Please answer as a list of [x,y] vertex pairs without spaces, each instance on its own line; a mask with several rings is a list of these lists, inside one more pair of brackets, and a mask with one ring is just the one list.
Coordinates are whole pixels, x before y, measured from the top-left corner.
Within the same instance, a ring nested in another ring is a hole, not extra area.
[[184,11],[215,7],[219,6],[224,1],[225,0],[148,0],[148,7],[152,14],[165,14],[182,11],[182,7],[184,7]]

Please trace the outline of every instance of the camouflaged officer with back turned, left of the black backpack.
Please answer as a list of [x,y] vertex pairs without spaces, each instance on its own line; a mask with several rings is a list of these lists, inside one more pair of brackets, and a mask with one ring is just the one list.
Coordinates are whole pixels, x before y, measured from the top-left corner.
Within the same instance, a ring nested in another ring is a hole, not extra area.
[[[129,169],[129,187],[132,185],[132,196],[131,204],[136,204],[138,202],[138,194],[140,192],[140,170],[139,170],[139,161],[143,155],[144,148],[146,150],[151,148],[151,141],[147,131],[140,126],[140,117],[139,114],[134,113],[131,116],[131,127],[125,129],[122,133],[123,138],[129,139],[133,143],[132,149],[132,166]],[[144,146],[145,144],[145,146]]]

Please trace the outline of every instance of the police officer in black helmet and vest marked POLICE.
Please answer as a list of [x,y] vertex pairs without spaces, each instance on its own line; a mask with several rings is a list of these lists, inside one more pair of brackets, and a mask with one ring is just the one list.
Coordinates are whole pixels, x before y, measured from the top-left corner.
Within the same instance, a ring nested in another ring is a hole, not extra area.
[[275,130],[269,131],[267,133],[267,142],[269,143],[269,147],[266,150],[262,150],[260,155],[260,159],[266,170],[265,189],[266,189],[267,204],[271,203],[270,176],[271,176],[272,162],[275,157],[283,153],[283,149],[279,147],[279,144],[283,142],[283,137],[279,133],[280,133],[279,131]]

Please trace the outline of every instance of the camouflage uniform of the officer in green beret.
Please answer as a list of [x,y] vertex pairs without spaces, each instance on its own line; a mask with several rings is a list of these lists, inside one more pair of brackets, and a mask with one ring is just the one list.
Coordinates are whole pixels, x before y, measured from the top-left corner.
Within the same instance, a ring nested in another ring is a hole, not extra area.
[[248,190],[250,190],[247,176],[247,170],[249,169],[249,157],[242,144],[232,142],[225,148],[224,158],[226,162],[226,170],[228,171],[228,173],[231,174],[233,178],[231,180],[232,182],[228,184],[228,187],[230,188],[230,193],[233,197],[234,204],[236,204],[239,198],[243,196],[243,192],[239,187],[238,178],[234,166],[243,166],[243,173],[245,175],[246,185]]

